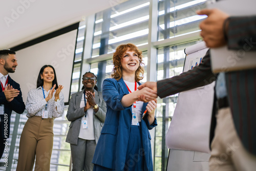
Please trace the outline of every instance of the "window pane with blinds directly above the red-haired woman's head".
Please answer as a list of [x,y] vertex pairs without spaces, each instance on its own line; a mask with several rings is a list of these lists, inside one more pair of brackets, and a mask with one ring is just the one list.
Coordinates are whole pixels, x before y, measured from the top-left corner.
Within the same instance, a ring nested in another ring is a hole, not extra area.
[[148,0],[127,1],[96,13],[92,57],[112,53],[120,44],[147,44]]

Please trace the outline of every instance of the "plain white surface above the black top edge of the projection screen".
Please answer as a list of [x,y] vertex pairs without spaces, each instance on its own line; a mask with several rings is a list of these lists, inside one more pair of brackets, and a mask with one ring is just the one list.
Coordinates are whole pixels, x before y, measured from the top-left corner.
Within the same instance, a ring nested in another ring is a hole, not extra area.
[[8,49],[127,0],[1,0],[0,49]]

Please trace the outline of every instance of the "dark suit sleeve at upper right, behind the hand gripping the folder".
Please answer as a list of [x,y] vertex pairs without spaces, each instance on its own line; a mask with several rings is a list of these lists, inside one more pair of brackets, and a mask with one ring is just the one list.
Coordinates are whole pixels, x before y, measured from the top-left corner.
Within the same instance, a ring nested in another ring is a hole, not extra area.
[[256,50],[256,16],[229,17],[227,46],[231,50]]

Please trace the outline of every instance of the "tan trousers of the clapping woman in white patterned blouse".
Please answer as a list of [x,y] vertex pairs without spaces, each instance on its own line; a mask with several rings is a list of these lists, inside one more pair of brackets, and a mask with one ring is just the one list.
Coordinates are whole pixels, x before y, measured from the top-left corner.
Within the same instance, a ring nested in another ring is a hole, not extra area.
[[[53,119],[33,116],[26,122],[19,142],[17,171],[50,170]],[[36,158],[36,160],[35,160]]]

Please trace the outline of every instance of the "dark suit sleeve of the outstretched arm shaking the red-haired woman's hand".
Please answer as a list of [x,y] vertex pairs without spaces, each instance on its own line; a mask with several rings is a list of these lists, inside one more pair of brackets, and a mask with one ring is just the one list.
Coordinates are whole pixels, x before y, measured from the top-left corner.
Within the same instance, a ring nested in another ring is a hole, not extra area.
[[157,93],[164,98],[176,93],[205,86],[216,80],[216,75],[211,72],[209,50],[202,59],[199,66],[193,70],[184,72],[172,78],[157,81]]

